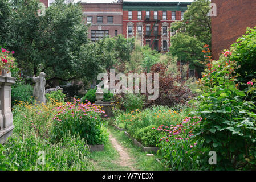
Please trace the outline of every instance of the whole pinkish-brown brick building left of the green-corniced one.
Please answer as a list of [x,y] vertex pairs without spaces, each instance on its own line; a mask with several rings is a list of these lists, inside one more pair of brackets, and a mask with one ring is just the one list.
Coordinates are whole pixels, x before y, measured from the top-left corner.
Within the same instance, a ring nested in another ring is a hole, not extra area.
[[123,34],[122,3],[81,3],[87,24],[91,24],[88,36],[92,41],[104,36]]

